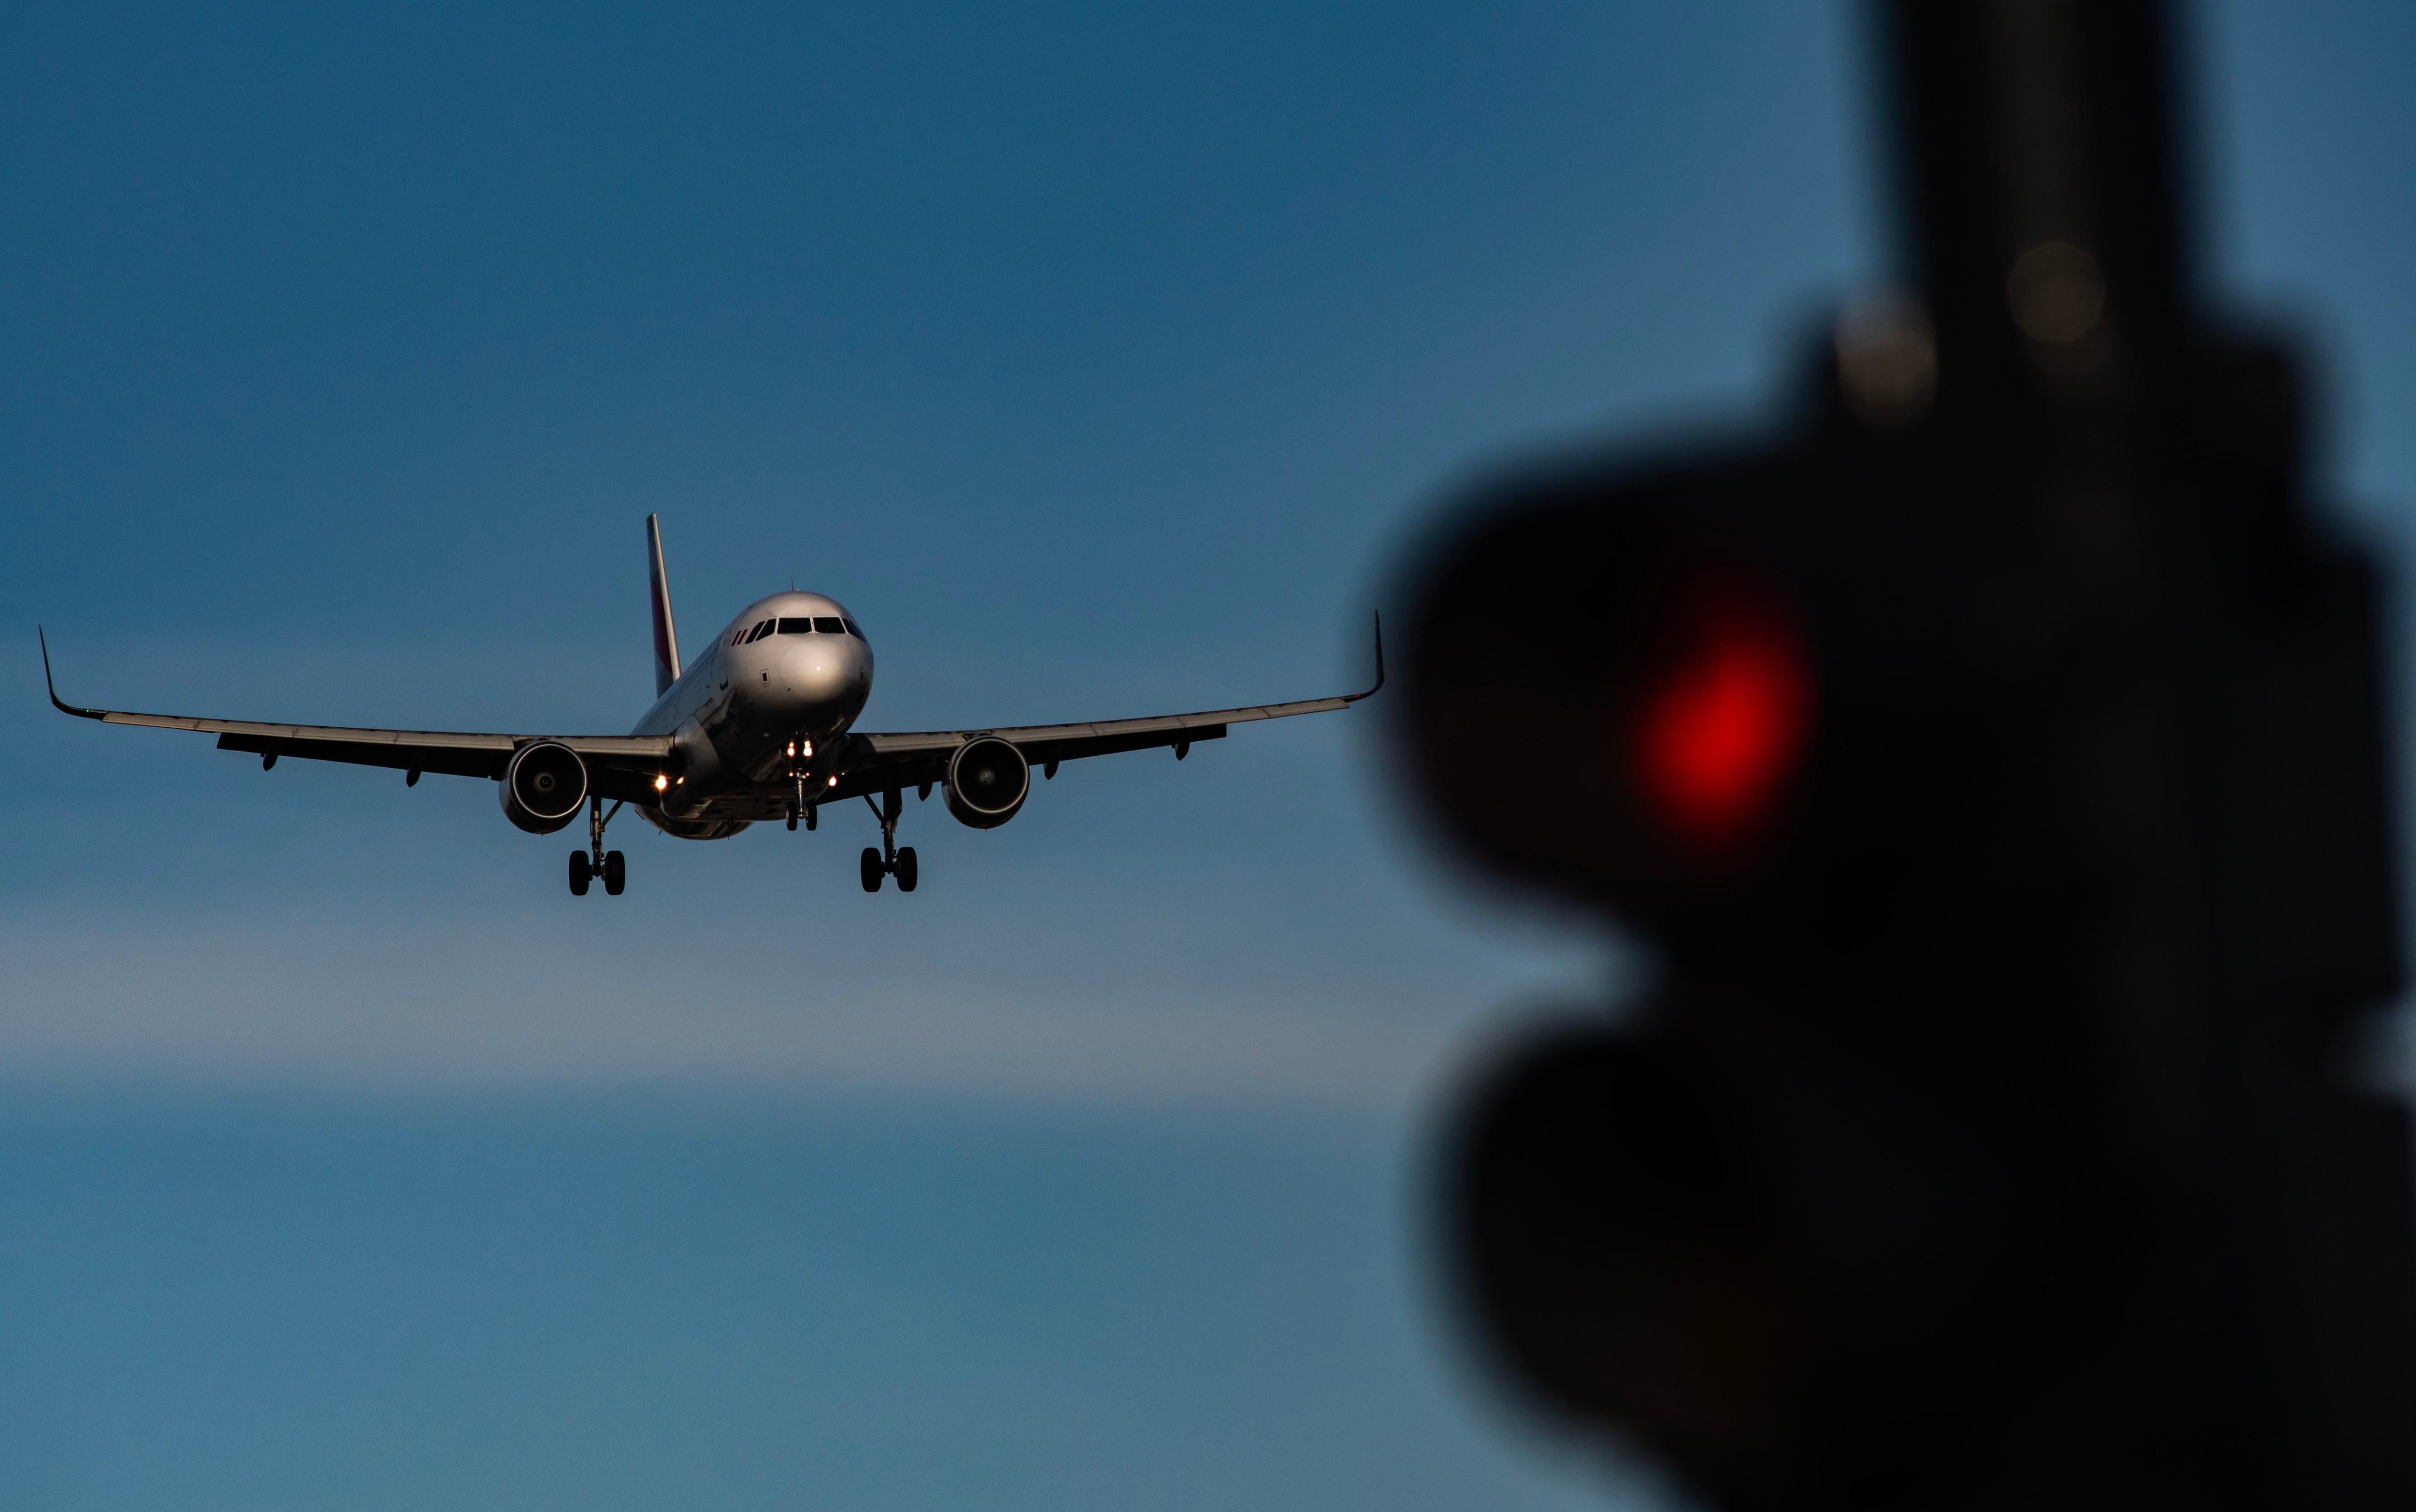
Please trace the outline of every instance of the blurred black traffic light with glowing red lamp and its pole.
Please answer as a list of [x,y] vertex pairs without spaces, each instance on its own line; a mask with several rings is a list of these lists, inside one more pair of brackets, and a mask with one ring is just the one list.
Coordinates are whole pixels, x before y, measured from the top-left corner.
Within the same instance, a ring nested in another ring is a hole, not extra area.
[[2375,587],[2201,309],[2145,0],[1880,12],[1916,297],[1800,420],[1479,490],[1406,780],[1638,1012],[1467,1094],[1447,1246],[1730,1507],[2416,1505]]

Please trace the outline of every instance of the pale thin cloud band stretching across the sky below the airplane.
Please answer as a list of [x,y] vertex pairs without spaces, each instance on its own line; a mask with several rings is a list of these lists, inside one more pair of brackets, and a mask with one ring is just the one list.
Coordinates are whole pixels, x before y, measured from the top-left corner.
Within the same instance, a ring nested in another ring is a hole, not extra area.
[[1184,983],[1012,983],[640,964],[469,930],[169,927],[19,915],[0,1072],[370,1087],[867,1087],[1046,1101],[1399,1111],[1454,1034],[1375,1005]]

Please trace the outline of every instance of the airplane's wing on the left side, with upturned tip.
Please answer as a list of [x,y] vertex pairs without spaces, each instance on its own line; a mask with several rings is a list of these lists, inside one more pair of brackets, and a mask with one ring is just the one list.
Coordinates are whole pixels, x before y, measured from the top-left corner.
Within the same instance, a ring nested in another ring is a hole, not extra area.
[[[41,679],[51,684],[51,642],[41,642]],[[391,766],[408,773],[447,773],[457,778],[500,778],[512,751],[532,739],[556,739],[587,758],[590,790],[609,799],[652,802],[655,773],[672,756],[662,734],[478,734],[464,729],[355,729],[348,725],[261,725],[254,720],[201,720],[188,715],[135,715],[114,708],[80,708],[58,696],[60,713],[101,725],[143,725],[147,729],[193,729],[215,734],[220,751],[249,751],[271,766],[278,756],[309,761],[350,761],[353,766]]]

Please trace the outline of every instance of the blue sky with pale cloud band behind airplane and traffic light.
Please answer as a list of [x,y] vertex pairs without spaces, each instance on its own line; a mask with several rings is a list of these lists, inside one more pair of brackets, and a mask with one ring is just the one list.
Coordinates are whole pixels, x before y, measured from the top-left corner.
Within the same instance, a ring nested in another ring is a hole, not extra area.
[[[2416,19],[2203,12],[2218,283],[2416,502]],[[1365,679],[1522,447],[1773,408],[1884,275],[1855,12],[0,17],[0,1500],[1580,1507],[1435,1304],[1428,1116],[1611,942],[1363,710],[689,845],[41,703],[618,732],[831,592],[872,727]],[[2409,647],[2402,647],[2409,650]],[[2402,657],[2402,667],[2409,667]]]

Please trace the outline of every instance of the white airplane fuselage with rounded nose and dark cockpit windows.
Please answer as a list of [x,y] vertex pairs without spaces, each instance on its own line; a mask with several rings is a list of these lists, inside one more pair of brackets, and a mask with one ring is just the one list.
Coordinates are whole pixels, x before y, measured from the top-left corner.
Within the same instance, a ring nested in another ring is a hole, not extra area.
[[715,814],[715,799],[778,783],[814,802],[870,696],[872,645],[838,599],[756,599],[631,729],[669,734],[681,754],[679,783],[640,814],[667,833],[710,841],[747,826]]

